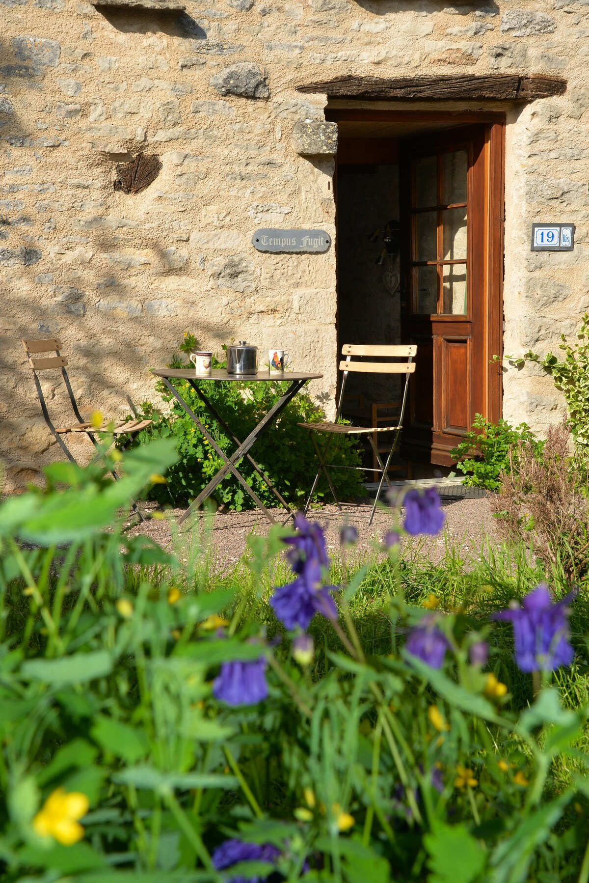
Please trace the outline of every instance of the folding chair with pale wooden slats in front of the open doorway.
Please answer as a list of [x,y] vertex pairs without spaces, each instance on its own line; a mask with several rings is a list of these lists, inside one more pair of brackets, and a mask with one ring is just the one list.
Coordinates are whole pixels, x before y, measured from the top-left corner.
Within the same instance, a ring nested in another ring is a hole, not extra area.
[[[313,481],[313,487],[311,488],[311,493],[306,501],[305,512],[308,511],[309,506],[311,505],[311,500],[313,499],[313,494],[315,491],[315,487],[317,487],[317,482],[319,481],[319,477],[321,472],[325,475],[325,478],[328,481],[329,489],[333,494],[333,498],[336,501],[336,506],[338,509],[341,509],[339,501],[336,496],[336,491],[333,486],[333,482],[331,477],[329,476],[329,469],[359,469],[359,470],[368,470],[370,472],[378,472],[381,474],[381,481],[378,486],[378,490],[376,492],[376,498],[374,500],[374,506],[372,508],[372,512],[370,513],[370,520],[368,522],[369,525],[372,525],[374,512],[376,510],[377,503],[379,501],[379,497],[381,495],[382,485],[385,480],[387,485],[390,487],[389,481],[389,464],[390,459],[395,453],[396,445],[399,441],[399,437],[401,434],[401,429],[403,427],[403,418],[405,412],[405,404],[407,404],[407,390],[409,389],[409,378],[415,372],[415,362],[413,361],[413,357],[417,352],[417,346],[357,346],[353,343],[345,343],[342,347],[342,355],[345,356],[345,361],[339,363],[339,370],[344,372],[344,377],[342,379],[342,386],[339,394],[339,401],[337,404],[336,411],[336,422],[335,423],[299,423],[298,426],[303,426],[305,429],[309,429],[311,431],[311,438],[313,439],[313,445],[315,451],[317,453],[317,457],[319,459],[319,469],[317,470],[317,475],[315,476],[315,480]],[[388,359],[388,361],[382,362],[363,362],[363,361],[352,361],[352,356],[356,357],[365,357],[368,356],[370,358],[384,358]],[[397,361],[392,361],[392,359],[397,359]],[[345,426],[342,423],[338,423],[337,421],[340,419],[340,415],[342,412],[342,403],[344,401],[344,390],[345,390],[345,381],[348,379],[348,374],[351,371],[359,371],[363,374],[404,374],[405,375],[405,383],[404,383],[404,391],[403,397],[401,399],[401,411],[398,416],[398,419],[395,420],[395,426],[381,426],[378,422],[375,423],[374,426]],[[393,433],[393,442],[388,452],[387,462],[386,464],[382,463],[381,453],[384,453],[381,449],[379,449],[379,445],[374,442],[375,438],[378,438],[380,433]],[[321,450],[319,445],[316,442],[315,434],[328,434],[328,441],[325,444],[325,447]],[[326,457],[328,455],[328,449],[331,444],[331,441],[334,435],[366,435],[368,442],[373,449],[374,460],[378,463],[379,468],[374,468],[373,466],[342,466],[337,464],[328,464],[326,463]]]

